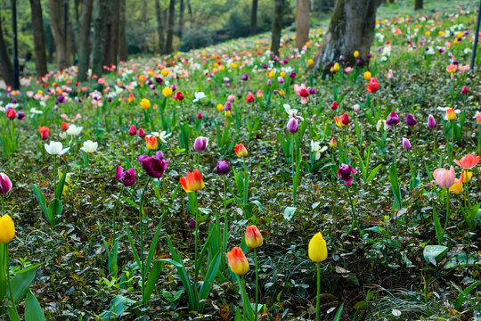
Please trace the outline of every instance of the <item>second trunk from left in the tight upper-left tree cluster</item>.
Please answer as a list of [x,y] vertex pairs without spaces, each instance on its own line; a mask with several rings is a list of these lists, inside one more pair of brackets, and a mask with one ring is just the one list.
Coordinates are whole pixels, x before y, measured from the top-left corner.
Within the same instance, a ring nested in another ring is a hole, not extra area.
[[92,73],[94,75],[102,75],[102,57],[103,57],[103,29],[107,15],[108,0],[99,0],[95,5],[94,15],[94,46],[92,48]]

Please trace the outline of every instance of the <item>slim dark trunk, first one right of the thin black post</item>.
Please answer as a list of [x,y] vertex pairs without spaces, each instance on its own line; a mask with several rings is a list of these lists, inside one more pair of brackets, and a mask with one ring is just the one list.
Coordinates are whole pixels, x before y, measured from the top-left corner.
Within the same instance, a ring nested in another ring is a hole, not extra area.
[[42,77],[48,70],[46,67],[44,19],[40,0],[30,0],[30,8],[34,34],[35,69],[37,70],[37,77]]

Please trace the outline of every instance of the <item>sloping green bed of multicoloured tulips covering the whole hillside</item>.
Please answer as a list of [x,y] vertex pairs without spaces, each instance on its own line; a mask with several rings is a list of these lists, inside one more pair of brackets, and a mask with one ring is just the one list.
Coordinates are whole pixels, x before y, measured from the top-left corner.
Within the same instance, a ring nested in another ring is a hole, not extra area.
[[476,14],[327,75],[313,29],[2,92],[0,319],[476,319]]

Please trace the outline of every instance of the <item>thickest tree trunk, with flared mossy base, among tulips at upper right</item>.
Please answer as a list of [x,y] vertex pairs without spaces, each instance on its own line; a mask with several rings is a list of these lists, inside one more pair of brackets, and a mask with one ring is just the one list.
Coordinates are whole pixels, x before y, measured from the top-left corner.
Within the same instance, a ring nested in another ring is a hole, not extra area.
[[319,48],[314,64],[314,72],[330,71],[328,62],[335,63],[340,55],[345,62],[355,65],[354,52],[358,51],[363,62],[369,62],[374,27],[376,26],[376,9],[379,0],[338,0],[330,18],[329,29]]

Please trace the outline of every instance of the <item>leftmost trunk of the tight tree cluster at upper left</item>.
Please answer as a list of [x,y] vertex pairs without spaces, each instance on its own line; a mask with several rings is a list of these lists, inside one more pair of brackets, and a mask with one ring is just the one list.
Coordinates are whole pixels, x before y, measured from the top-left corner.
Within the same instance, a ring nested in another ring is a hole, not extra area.
[[84,0],[82,16],[78,26],[78,81],[86,81],[88,62],[90,61],[90,24],[92,23],[92,10],[94,0]]

